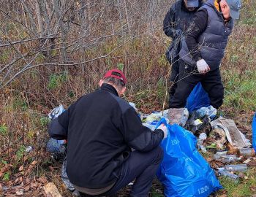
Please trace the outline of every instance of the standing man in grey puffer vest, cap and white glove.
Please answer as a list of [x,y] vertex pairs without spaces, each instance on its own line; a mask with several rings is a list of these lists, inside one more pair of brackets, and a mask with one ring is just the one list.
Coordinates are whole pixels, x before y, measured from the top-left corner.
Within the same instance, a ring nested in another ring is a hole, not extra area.
[[170,108],[184,107],[192,89],[201,82],[211,105],[219,108],[224,88],[219,70],[234,19],[239,18],[241,0],[208,0],[200,7],[181,42],[179,82]]

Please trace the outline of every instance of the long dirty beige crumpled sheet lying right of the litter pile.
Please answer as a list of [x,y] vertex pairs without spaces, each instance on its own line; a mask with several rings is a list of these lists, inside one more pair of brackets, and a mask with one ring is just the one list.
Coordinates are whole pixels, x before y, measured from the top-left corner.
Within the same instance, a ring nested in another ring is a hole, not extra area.
[[225,131],[228,142],[234,147],[250,147],[252,145],[249,139],[246,139],[244,134],[238,130],[234,120],[219,117],[211,122],[211,126],[222,128]]

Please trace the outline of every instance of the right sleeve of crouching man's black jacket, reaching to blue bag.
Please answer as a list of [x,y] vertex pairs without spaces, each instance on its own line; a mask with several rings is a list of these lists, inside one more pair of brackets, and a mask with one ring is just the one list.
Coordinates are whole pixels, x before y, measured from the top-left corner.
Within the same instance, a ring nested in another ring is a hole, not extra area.
[[164,137],[161,129],[151,131],[142,125],[135,109],[129,108],[122,115],[121,132],[129,147],[141,152],[147,152],[157,147]]

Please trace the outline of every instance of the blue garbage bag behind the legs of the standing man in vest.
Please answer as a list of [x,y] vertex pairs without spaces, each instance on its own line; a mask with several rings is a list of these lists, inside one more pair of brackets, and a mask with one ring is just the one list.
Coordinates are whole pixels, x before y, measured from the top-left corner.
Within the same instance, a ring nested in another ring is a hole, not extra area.
[[203,89],[201,82],[198,82],[192,92],[187,98],[186,108],[190,112],[200,109],[201,107],[208,107],[211,104],[208,93]]

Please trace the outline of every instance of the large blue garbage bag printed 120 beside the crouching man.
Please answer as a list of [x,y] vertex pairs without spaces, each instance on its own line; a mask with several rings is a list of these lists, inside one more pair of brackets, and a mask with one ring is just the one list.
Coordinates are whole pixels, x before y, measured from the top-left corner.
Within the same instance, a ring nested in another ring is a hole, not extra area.
[[[165,119],[161,123],[167,125]],[[161,142],[164,158],[157,171],[165,196],[206,197],[221,189],[213,169],[196,149],[196,137],[176,124],[167,128],[169,134]]]

